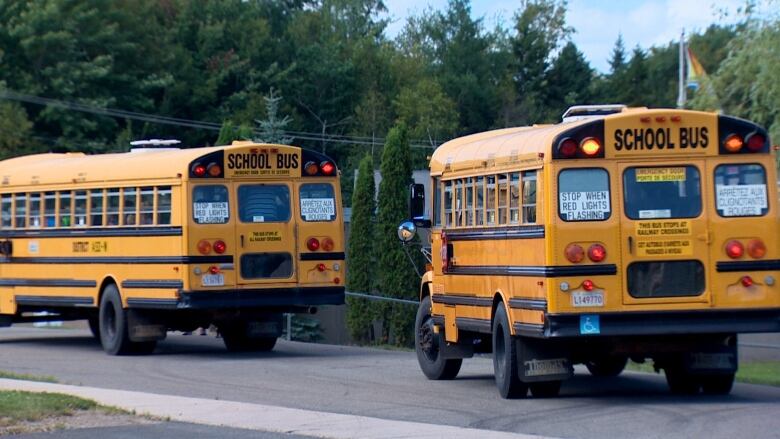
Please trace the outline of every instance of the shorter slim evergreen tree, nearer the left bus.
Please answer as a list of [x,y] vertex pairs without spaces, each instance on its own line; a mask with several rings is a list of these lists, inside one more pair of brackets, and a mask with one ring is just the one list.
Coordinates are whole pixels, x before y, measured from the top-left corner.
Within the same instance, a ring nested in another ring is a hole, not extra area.
[[[371,293],[374,279],[374,165],[371,155],[360,161],[355,192],[352,194],[352,220],[347,243],[347,289]],[[372,341],[374,302],[360,297],[347,298],[347,327],[352,339]]]

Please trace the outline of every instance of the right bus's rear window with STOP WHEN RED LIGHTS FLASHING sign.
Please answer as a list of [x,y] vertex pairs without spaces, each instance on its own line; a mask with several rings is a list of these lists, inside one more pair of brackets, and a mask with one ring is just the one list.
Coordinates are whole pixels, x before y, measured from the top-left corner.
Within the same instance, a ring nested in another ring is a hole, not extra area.
[[604,221],[612,215],[609,174],[601,168],[558,174],[558,216],[564,221]]

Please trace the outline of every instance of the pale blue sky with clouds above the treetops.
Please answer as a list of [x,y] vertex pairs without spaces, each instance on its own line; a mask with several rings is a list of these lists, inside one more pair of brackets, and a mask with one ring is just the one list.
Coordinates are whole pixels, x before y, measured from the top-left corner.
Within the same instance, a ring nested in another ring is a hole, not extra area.
[[[388,36],[403,29],[406,17],[426,8],[444,9],[447,0],[386,0],[391,23]],[[487,28],[497,23],[509,26],[520,1],[472,0],[472,16],[484,17]],[[575,30],[572,40],[590,65],[600,72],[609,70],[609,56],[619,34],[626,51],[677,41],[680,32],[703,31],[712,23],[736,21],[744,0],[569,0],[566,21]],[[723,12],[729,12],[724,16]]]

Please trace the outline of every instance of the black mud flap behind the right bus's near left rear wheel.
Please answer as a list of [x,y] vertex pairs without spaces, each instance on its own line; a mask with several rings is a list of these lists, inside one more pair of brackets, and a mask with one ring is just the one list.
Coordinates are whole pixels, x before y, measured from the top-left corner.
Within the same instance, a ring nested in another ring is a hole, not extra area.
[[562,343],[529,337],[514,337],[514,342],[520,381],[562,381],[574,374],[568,349]]

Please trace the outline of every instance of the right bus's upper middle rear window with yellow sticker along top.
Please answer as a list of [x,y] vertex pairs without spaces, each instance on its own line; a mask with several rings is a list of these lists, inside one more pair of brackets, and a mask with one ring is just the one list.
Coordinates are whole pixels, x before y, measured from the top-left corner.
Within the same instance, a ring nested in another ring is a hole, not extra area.
[[631,219],[695,218],[701,213],[701,180],[694,166],[628,168],[623,194]]

